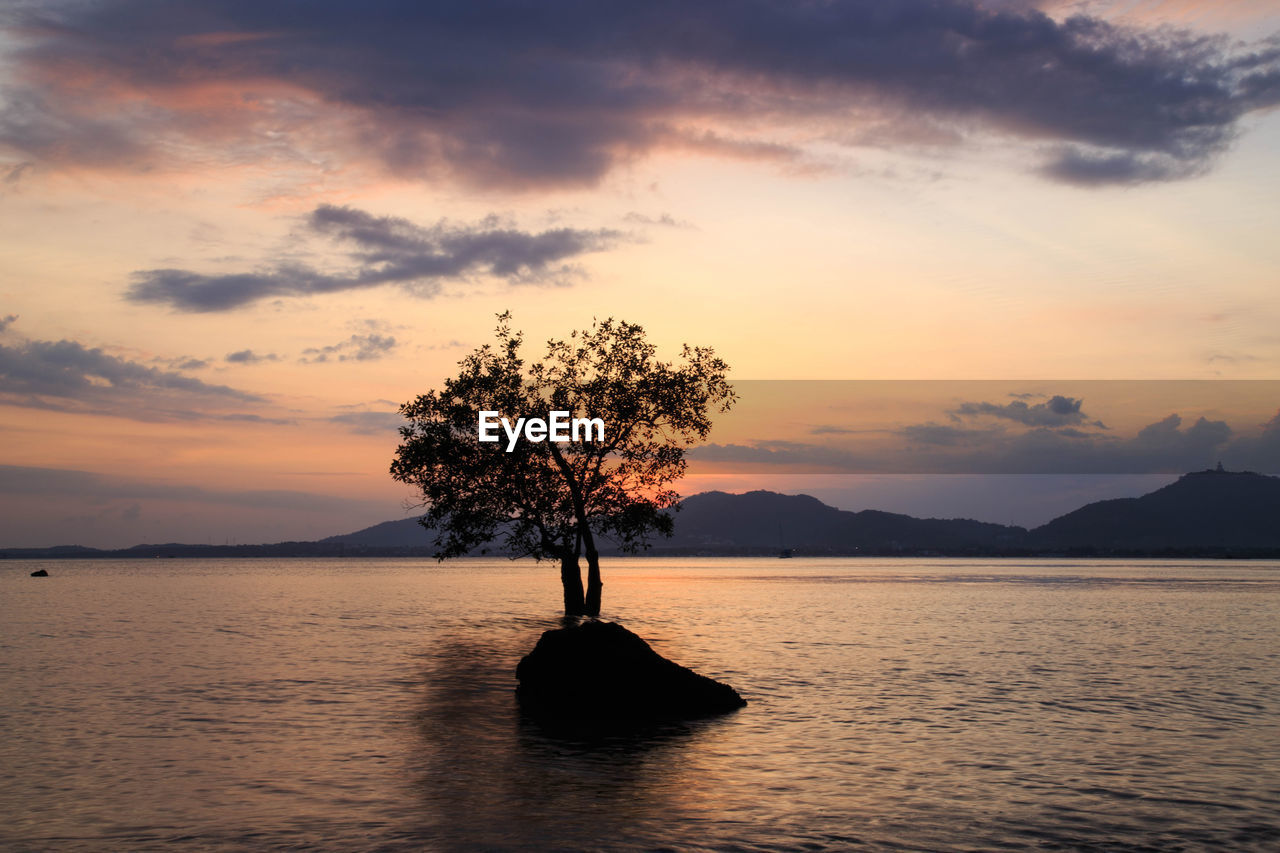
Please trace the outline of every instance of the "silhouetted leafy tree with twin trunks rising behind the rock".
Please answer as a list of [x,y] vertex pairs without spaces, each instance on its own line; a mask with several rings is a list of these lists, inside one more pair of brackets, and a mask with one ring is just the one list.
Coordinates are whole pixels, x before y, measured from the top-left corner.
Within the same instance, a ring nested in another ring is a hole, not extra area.
[[[436,558],[500,540],[518,556],[558,560],[564,612],[598,616],[598,538],[635,552],[653,534],[671,535],[671,484],[685,473],[685,451],[707,438],[713,411],[736,400],[728,368],[708,347],[685,346],[680,364],[659,361],[643,328],[612,319],[549,341],[545,356],[526,364],[509,321],[499,315],[497,343],[460,361],[440,391],[401,406],[408,424],[392,476],[419,491]],[[512,424],[550,411],[599,418],[604,438],[521,438],[508,451],[506,435],[479,441],[484,410]]]

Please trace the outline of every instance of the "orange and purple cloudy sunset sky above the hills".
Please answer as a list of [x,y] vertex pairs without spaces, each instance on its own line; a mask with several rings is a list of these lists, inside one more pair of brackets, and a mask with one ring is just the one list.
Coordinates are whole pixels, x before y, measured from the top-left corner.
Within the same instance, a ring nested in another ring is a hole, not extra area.
[[1198,453],[1062,456],[1038,501],[980,465],[687,492],[1032,524],[1280,464],[1270,382],[1084,382],[1280,379],[1280,3],[10,0],[0,28],[0,546],[403,517],[397,406],[508,309],[737,380],[1010,383],[740,416],[708,461],[860,424]]

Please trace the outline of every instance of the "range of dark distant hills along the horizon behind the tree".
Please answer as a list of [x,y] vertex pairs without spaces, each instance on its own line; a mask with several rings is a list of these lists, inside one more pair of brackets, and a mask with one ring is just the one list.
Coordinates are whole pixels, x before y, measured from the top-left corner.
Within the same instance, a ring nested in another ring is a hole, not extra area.
[[[433,535],[416,519],[384,521],[319,542],[260,546],[78,546],[0,548],[0,557],[390,557],[430,556]],[[1138,498],[1098,501],[1023,528],[970,519],[850,512],[806,494],[704,492],[686,498],[657,555],[905,556],[1243,556],[1280,557],[1280,478],[1196,471]],[[497,549],[500,552],[500,548]],[[609,551],[603,549],[605,553]]]

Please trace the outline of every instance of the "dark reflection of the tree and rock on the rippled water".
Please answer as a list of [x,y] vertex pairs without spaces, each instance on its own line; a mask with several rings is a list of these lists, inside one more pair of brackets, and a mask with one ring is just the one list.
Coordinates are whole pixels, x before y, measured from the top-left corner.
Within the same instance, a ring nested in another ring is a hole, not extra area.
[[[539,625],[539,630],[554,628]],[[548,726],[524,715],[515,669],[539,630],[451,637],[424,653],[417,794],[443,848],[617,847],[698,809],[689,752],[719,720]]]

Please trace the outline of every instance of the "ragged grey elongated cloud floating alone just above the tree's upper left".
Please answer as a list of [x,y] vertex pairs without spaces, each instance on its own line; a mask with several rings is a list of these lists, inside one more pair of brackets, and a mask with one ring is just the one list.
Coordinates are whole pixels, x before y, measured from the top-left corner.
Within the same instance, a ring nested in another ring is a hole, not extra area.
[[397,216],[375,216],[353,207],[321,205],[307,229],[348,247],[353,266],[339,274],[305,264],[278,264],[252,272],[210,275],[183,269],[133,274],[125,297],[179,311],[227,311],[271,296],[315,296],[397,284],[421,297],[442,283],[492,275],[508,283],[547,283],[571,277],[568,259],[608,246],[613,231],[556,228],[530,233],[488,218],[474,225],[439,222],[417,225]]

